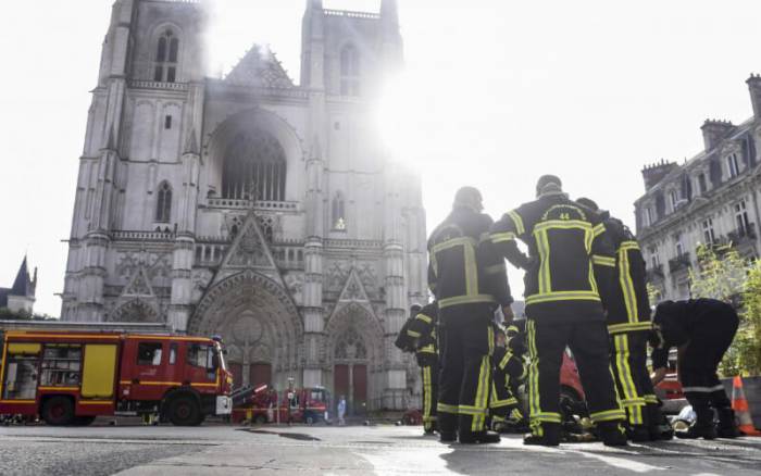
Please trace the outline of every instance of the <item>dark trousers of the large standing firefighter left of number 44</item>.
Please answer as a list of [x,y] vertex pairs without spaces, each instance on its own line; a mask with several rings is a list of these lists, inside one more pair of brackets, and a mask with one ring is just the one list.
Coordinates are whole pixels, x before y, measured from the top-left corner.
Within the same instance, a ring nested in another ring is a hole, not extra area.
[[488,304],[440,310],[438,427],[461,435],[486,429],[491,390],[494,316]]

